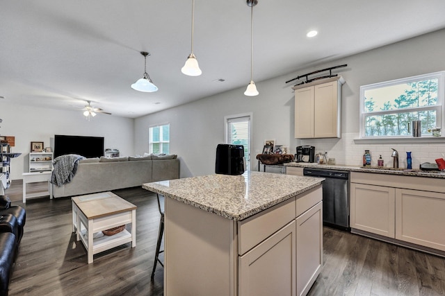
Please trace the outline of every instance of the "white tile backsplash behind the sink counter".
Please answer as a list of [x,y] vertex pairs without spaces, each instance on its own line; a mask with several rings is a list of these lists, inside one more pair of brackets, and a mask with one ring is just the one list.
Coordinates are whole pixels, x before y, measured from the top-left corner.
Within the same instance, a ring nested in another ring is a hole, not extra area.
[[327,152],[327,157],[335,158],[336,164],[347,166],[362,166],[364,150],[371,153],[371,166],[377,166],[377,160],[382,155],[384,165],[392,167],[391,157],[394,148],[398,151],[398,166],[406,168],[406,152],[411,151],[412,168],[419,168],[424,162],[435,164],[435,159],[445,159],[445,143],[376,143],[362,144],[355,143],[358,133],[341,134],[341,139],[305,139],[298,140],[298,145],[315,146],[315,153]]

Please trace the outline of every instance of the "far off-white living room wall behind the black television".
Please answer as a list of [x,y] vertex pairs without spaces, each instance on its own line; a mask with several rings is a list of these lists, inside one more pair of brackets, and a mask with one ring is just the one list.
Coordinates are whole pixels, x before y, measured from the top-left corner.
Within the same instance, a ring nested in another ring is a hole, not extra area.
[[54,150],[54,134],[104,137],[105,148],[118,148],[121,155],[133,155],[133,119],[98,114],[86,121],[81,111],[61,111],[0,103],[0,134],[15,136],[11,150],[22,153],[11,159],[11,180],[22,179],[29,170],[31,141],[42,141]]

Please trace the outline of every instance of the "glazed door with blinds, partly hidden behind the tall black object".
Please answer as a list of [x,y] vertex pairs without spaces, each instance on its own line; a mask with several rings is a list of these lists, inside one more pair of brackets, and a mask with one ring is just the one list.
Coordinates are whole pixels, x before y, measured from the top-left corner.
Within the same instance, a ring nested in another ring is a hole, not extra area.
[[227,143],[244,146],[246,167],[250,168],[250,116],[226,117]]

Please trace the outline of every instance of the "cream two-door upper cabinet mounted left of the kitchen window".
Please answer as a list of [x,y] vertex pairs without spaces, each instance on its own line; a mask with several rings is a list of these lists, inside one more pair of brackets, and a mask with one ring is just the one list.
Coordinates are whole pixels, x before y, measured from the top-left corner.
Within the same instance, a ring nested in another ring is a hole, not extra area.
[[341,76],[293,87],[295,90],[295,137],[341,137]]

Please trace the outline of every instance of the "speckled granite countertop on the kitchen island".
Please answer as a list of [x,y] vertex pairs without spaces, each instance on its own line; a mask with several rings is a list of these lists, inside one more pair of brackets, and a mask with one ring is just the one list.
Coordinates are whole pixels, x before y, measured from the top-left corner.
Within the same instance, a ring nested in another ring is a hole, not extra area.
[[143,184],[143,188],[231,220],[243,220],[312,189],[319,177],[248,171]]

